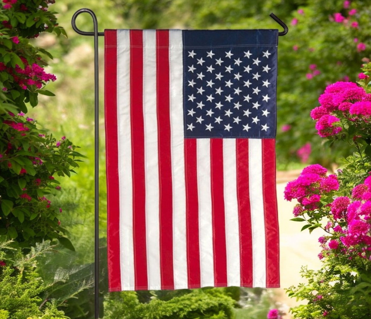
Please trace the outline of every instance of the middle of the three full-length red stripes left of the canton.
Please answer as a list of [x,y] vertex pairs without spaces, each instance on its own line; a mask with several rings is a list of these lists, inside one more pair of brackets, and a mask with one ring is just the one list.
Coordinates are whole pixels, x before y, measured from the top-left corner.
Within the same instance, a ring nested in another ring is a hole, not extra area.
[[130,31],[130,122],[132,149],[133,240],[135,290],[147,290],[145,238],[145,168],[143,120],[143,35]]

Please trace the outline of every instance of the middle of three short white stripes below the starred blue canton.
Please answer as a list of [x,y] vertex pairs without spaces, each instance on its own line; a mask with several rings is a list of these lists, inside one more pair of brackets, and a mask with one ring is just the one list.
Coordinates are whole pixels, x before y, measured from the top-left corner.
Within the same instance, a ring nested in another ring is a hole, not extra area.
[[236,140],[223,139],[224,210],[228,286],[240,286],[240,236],[237,203]]

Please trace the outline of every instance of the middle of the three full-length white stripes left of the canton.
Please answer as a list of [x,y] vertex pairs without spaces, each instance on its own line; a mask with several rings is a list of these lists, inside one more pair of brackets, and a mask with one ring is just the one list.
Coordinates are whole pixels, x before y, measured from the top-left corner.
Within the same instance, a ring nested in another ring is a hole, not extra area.
[[161,289],[155,30],[143,30],[143,73],[145,226],[148,289]]

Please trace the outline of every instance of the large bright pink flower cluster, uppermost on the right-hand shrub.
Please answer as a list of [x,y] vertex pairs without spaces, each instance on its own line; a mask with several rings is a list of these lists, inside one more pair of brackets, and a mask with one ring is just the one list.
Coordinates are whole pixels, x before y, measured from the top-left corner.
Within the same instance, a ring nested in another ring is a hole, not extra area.
[[316,120],[315,127],[321,137],[329,137],[342,130],[336,125],[340,124],[337,116],[355,121],[359,118],[365,120],[371,115],[371,94],[353,82],[328,85],[318,101],[321,105],[313,108],[311,117]]

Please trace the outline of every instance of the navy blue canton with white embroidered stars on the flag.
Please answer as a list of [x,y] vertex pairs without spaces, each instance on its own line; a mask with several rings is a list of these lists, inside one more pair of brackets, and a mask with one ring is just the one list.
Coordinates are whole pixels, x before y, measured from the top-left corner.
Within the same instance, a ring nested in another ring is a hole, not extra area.
[[[255,30],[245,31],[249,31],[250,36]],[[209,38],[207,33],[211,32],[211,38],[218,41],[218,31],[197,32],[195,36],[204,32]],[[197,45],[199,38],[193,46],[192,41],[184,40],[185,137],[275,137],[277,43],[246,43],[243,37],[245,43],[240,44],[239,35],[234,40],[229,34],[221,36],[224,43],[212,45]],[[254,35],[251,38],[259,39]]]

